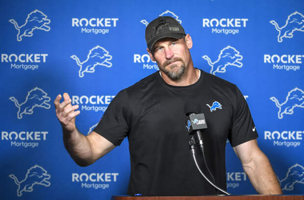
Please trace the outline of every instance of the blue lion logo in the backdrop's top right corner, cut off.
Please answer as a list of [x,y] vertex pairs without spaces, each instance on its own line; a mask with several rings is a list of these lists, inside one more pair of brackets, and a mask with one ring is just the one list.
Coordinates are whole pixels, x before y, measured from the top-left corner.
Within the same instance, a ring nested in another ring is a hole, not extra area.
[[288,16],[285,25],[282,27],[279,27],[274,20],[270,21],[270,23],[275,25],[276,30],[279,31],[278,42],[282,42],[284,37],[292,38],[293,32],[296,30],[304,32],[304,16],[297,11]]

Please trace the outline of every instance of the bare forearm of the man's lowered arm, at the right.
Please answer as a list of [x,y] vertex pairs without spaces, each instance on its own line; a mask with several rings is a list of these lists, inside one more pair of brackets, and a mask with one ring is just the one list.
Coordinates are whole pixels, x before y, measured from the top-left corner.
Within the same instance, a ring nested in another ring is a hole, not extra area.
[[243,164],[253,187],[259,194],[282,194],[279,181],[266,155],[260,151],[248,164]]

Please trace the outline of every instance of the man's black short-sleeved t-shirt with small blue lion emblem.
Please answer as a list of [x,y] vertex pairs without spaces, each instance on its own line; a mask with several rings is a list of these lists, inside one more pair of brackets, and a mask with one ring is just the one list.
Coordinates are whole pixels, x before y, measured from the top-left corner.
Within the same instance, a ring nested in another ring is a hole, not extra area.
[[[202,70],[199,80],[189,86],[168,85],[157,71],[119,92],[94,129],[115,146],[128,137],[129,195],[216,194],[189,151],[184,113],[188,100],[201,105],[208,126],[203,132],[206,163],[215,184],[226,189],[227,139],[235,147],[257,138],[246,100],[234,84]],[[210,178],[204,165],[202,169]]]

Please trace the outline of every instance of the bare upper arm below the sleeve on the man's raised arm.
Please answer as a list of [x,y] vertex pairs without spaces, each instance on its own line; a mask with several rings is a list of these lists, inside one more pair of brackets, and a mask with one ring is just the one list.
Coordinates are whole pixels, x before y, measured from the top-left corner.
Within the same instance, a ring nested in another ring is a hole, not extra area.
[[86,136],[91,144],[91,149],[94,155],[95,160],[101,158],[109,151],[113,150],[116,146],[113,145],[110,141],[102,137],[95,131],[92,131],[89,135]]

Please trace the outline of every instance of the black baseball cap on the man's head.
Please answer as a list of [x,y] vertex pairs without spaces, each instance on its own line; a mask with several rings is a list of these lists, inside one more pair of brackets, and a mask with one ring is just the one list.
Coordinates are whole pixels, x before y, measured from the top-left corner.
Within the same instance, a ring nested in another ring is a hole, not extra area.
[[185,34],[184,28],[176,19],[169,16],[158,17],[146,27],[146,42],[151,50],[155,42],[162,38],[181,39]]

